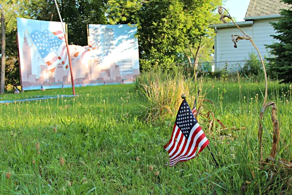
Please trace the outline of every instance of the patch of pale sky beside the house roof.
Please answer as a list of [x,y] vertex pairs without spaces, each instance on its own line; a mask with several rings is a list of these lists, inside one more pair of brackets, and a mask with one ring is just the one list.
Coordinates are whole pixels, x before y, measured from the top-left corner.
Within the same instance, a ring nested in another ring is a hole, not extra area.
[[228,10],[231,17],[240,22],[244,21],[249,2],[250,0],[227,0],[224,7]]

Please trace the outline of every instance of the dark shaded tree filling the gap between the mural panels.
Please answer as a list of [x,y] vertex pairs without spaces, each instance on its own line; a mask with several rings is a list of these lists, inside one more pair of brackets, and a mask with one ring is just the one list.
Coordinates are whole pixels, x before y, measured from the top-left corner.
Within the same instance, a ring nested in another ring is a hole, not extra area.
[[[54,1],[30,0],[28,17],[60,22]],[[87,45],[87,24],[107,24],[103,7],[105,0],[57,0],[63,22],[68,25],[69,44]]]

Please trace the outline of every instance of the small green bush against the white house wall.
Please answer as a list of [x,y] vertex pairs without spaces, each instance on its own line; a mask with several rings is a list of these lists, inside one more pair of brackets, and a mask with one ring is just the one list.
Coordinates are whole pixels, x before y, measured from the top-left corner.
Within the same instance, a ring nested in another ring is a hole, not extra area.
[[240,70],[242,76],[262,76],[263,68],[258,55],[254,52],[248,54],[249,58],[244,63],[243,68]]

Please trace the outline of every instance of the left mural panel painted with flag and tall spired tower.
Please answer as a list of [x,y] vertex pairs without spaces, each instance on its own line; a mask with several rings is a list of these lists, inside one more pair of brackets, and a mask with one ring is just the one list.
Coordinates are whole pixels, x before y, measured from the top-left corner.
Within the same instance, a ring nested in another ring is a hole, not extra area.
[[23,89],[71,86],[61,23],[17,18],[17,28]]

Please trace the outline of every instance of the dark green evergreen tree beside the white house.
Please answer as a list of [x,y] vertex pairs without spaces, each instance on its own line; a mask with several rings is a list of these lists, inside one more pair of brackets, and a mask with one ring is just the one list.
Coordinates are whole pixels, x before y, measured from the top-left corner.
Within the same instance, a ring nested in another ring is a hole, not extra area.
[[[292,6],[292,0],[282,0]],[[280,14],[283,16],[277,23],[272,23],[274,29],[278,33],[272,35],[274,39],[279,40],[278,43],[268,45],[271,48],[271,54],[274,58],[269,60],[269,69],[272,76],[282,80],[283,83],[292,82],[292,10],[282,10]]]

